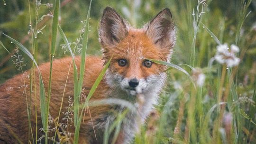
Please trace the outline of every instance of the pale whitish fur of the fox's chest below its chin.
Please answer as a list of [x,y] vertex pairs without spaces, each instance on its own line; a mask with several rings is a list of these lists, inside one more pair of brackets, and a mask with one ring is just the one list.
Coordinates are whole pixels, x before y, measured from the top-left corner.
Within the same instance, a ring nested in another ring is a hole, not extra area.
[[135,101],[130,102],[122,99],[110,99],[117,105],[113,107],[112,112],[102,115],[101,122],[97,124],[97,129],[101,129],[101,135],[110,135],[110,142],[115,133],[119,133],[119,135],[122,135],[121,144],[128,144],[134,135],[139,132],[139,128],[144,124],[157,98],[157,93],[153,92],[147,95],[140,94],[134,99]]

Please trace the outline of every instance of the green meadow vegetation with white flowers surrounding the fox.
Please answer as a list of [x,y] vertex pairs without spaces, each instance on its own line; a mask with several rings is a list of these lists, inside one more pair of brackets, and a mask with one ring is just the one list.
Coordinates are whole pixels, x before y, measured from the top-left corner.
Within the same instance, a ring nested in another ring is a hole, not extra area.
[[[0,0],[0,83],[57,58],[101,55],[98,27],[106,6],[115,8],[135,27],[142,27],[167,7],[177,29],[174,53],[171,63],[152,61],[170,67],[166,71],[168,80],[159,104],[133,143],[256,143],[256,1],[93,0],[91,7],[90,0],[61,0],[59,7],[58,1]],[[75,69],[71,71],[78,73]],[[74,81],[76,97],[80,96],[84,81],[78,75]],[[49,123],[65,132],[56,132],[58,139],[51,137],[47,141],[70,142],[70,135],[78,135],[79,131],[69,134],[65,126],[73,122],[79,127],[79,108],[87,108],[103,75],[104,71],[84,105],[70,99],[66,117],[60,117],[66,124],[58,124],[56,117],[49,115],[47,104],[51,99],[45,98],[50,95],[42,91],[42,131],[46,132],[46,139],[47,132],[56,129],[50,129]],[[105,143],[126,113],[120,114],[106,130]],[[34,143],[40,143],[39,137],[33,138]]]

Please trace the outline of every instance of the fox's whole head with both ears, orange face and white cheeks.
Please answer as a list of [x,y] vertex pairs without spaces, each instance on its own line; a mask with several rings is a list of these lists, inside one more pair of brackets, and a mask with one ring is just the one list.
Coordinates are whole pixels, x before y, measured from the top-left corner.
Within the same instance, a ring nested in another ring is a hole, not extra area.
[[111,88],[131,95],[158,92],[162,88],[166,66],[146,59],[169,61],[171,58],[175,29],[169,9],[137,29],[107,7],[101,19],[99,41],[105,62],[112,57],[106,73]]

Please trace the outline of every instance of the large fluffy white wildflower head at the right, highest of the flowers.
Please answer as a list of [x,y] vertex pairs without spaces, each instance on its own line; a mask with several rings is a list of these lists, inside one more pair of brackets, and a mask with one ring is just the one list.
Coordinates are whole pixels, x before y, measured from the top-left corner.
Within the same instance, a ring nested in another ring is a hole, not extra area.
[[239,47],[237,45],[231,45],[230,48],[227,44],[218,45],[217,53],[214,58],[220,64],[226,64],[228,67],[233,67],[240,62],[240,59],[236,56],[236,53],[238,52]]

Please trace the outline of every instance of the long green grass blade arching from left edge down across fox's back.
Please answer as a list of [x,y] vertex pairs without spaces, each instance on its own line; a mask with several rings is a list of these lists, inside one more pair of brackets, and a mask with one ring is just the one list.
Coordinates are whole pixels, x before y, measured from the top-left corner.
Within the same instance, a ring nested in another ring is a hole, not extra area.
[[[3,34],[5,35],[5,34]],[[13,42],[14,45],[16,45],[22,52],[24,52],[25,54],[27,54],[27,56],[33,61],[33,63],[35,63],[35,65],[37,66],[37,70],[38,70],[38,74],[39,74],[39,88],[40,88],[40,108],[41,108],[41,117],[42,117],[42,123],[43,123],[43,127],[44,129],[47,128],[46,126],[46,92],[45,92],[45,86],[44,86],[44,82],[43,82],[43,78],[41,75],[41,72],[39,70],[39,67],[37,65],[36,60],[34,59],[33,55],[27,50],[27,48],[25,46],[23,46],[22,44],[20,44],[18,41],[16,41],[15,39],[11,38],[10,36],[5,35],[7,38],[9,38],[9,40],[11,42]]]

